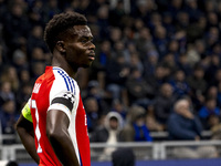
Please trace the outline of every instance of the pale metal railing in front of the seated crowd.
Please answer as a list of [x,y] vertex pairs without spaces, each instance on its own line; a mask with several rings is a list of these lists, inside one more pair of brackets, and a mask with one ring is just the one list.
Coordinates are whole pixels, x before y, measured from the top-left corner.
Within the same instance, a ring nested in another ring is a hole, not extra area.
[[[173,159],[171,148],[175,147],[214,146],[221,157],[221,141],[200,142],[158,142],[158,143],[118,143],[107,145],[105,143],[91,143],[91,155],[94,162],[110,160],[110,154],[105,155],[105,148],[130,147],[137,160]],[[19,163],[33,163],[22,144],[0,146],[0,160],[17,160]]]

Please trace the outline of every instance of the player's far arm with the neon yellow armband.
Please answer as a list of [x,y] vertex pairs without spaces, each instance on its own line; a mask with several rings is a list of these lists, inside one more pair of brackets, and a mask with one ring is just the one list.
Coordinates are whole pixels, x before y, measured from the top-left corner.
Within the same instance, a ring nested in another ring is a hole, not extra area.
[[34,129],[29,104],[23,107],[15,128],[27,152],[39,164],[40,158],[35,149]]

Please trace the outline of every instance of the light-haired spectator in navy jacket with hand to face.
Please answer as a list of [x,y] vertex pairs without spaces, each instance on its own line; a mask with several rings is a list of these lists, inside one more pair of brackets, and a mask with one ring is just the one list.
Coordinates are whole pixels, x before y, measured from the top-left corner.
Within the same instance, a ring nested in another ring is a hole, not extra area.
[[[190,102],[181,98],[175,103],[173,113],[168,120],[168,132],[172,141],[200,141],[202,125],[192,113]],[[177,158],[211,158],[217,157],[213,146],[175,147]]]

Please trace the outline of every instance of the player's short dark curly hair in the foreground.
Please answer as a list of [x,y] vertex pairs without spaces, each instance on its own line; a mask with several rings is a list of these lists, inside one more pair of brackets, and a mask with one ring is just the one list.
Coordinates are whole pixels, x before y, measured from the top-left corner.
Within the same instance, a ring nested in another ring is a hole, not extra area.
[[[55,14],[46,24],[44,30],[44,41],[51,52],[59,40],[74,25],[86,25],[87,20],[77,12],[64,12]],[[64,37],[63,37],[64,38]]]

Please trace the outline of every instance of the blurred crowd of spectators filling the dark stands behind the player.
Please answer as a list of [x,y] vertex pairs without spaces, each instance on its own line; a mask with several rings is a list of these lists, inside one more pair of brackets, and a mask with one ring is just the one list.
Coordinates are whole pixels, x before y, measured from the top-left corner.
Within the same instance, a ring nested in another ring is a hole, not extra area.
[[85,14],[94,35],[96,60],[76,77],[92,142],[221,138],[219,0],[0,0],[3,134],[50,65],[43,31],[62,11]]

